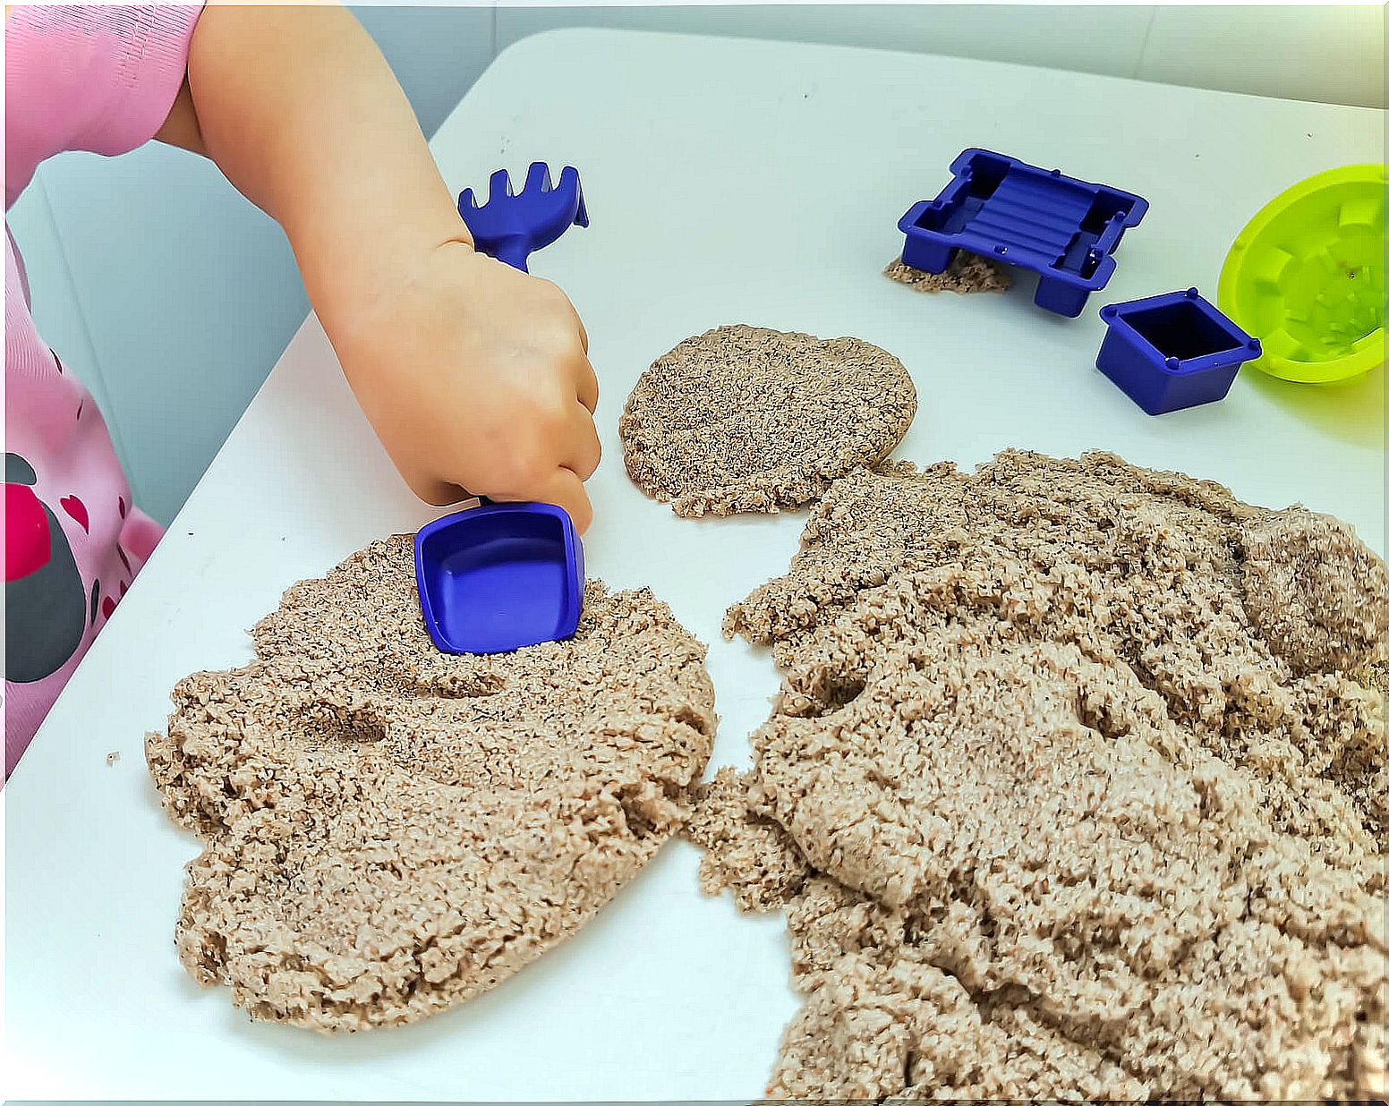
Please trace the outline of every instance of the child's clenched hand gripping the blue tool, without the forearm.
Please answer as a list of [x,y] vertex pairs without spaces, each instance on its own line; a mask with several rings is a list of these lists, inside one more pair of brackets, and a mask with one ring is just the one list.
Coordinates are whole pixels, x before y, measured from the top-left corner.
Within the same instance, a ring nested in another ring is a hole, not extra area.
[[382,276],[371,306],[336,313],[329,333],[415,495],[556,503],[586,529],[599,383],[565,295],[465,242]]

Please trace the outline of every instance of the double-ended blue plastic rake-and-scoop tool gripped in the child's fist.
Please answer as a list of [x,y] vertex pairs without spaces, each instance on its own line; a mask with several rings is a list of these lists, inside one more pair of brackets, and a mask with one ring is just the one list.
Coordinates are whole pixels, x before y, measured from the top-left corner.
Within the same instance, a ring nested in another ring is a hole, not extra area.
[[[458,214],[474,246],[526,271],[526,258],[569,226],[588,226],[579,171],[550,185],[543,161],[519,195],[506,170],[488,201],[472,189]],[[415,535],[415,585],[431,641],[444,653],[511,653],[574,635],[583,607],[583,546],[574,520],[550,503],[489,503],[436,518]]]

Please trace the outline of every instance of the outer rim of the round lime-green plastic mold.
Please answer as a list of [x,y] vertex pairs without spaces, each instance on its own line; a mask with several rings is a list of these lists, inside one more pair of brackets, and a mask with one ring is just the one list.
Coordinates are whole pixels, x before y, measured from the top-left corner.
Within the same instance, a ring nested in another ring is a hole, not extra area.
[[[1345,183],[1364,183],[1376,185],[1383,189],[1385,179],[1385,167],[1379,164],[1371,163],[1363,165],[1342,165],[1336,170],[1318,172],[1317,175],[1308,176],[1306,181],[1299,181],[1292,188],[1279,192],[1258,210],[1258,214],[1256,214],[1254,218],[1245,224],[1245,229],[1239,232],[1239,236],[1235,239],[1235,245],[1229,247],[1229,253],[1225,256],[1225,264],[1221,268],[1220,285],[1215,293],[1220,310],[1229,315],[1229,318],[1239,327],[1243,327],[1250,333],[1254,333],[1254,331],[1250,329],[1250,320],[1247,317],[1240,317],[1236,289],[1243,282],[1242,270],[1249,247],[1258,239],[1260,235],[1264,233],[1268,224],[1282,215],[1295,203],[1321,192],[1324,188]],[[1365,372],[1370,372],[1383,364],[1383,324],[1381,322],[1378,331],[1371,331],[1371,333],[1365,336],[1376,336],[1378,340],[1367,342],[1364,349],[1354,350],[1331,361],[1293,361],[1288,357],[1278,357],[1272,353],[1265,353],[1258,360],[1250,361],[1250,364],[1254,368],[1263,370],[1270,377],[1278,377],[1285,381],[1296,381],[1299,383],[1336,383],[1339,381],[1349,381],[1354,377],[1363,377]]]

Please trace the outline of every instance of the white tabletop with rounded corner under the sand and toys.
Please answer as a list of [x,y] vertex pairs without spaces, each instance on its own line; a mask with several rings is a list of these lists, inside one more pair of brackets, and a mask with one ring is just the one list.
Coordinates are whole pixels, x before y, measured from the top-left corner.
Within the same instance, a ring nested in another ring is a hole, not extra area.
[[[776,686],[718,636],[785,570],[803,517],[682,521],[624,474],[636,375],[725,322],[857,335],[900,356],[921,411],[899,456],[974,465],[1004,446],[1113,449],[1304,500],[1383,549],[1382,374],[1343,389],[1245,372],[1218,404],[1149,418],[1093,368],[1103,303],[1213,295],[1245,221],[1286,185],[1383,160],[1381,113],[1013,65],[771,42],[565,31],[507,50],[433,142],[454,190],[532,158],[581,167],[593,224],[533,258],[574,297],[603,381],[607,460],[589,570],[650,584],[710,643],[714,763],[745,763]],[[1151,213],[1079,320],[881,276],[896,220],[985,146],[1146,196]],[[403,1031],[325,1039],[250,1024],[172,946],[197,846],[143,764],[182,675],[244,663],[293,581],[429,513],[397,481],[310,317],[101,634],[7,788],[10,1098],[736,1099],[782,1027],[779,916],[739,917],[667,848],[567,946]],[[107,754],[119,753],[108,767]]]

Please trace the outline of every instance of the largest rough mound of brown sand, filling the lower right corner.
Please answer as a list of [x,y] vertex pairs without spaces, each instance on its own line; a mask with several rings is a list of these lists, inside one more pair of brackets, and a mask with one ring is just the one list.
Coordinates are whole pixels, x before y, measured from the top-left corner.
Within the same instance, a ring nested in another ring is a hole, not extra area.
[[1343,524],[1113,456],[836,484],[686,831],[788,910],[770,1093],[1383,1096],[1386,627]]

